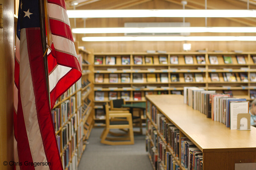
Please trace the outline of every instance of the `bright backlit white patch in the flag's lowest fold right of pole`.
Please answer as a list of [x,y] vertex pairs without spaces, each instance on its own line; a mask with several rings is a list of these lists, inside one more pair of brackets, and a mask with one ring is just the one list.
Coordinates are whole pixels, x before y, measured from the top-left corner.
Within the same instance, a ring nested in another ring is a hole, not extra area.
[[57,83],[60,80],[60,78],[65,76],[65,74],[67,74],[69,70],[71,70],[71,68],[65,67],[65,66],[62,66],[62,65],[57,65],[57,67],[49,75],[49,88],[50,88],[50,92],[57,85]]

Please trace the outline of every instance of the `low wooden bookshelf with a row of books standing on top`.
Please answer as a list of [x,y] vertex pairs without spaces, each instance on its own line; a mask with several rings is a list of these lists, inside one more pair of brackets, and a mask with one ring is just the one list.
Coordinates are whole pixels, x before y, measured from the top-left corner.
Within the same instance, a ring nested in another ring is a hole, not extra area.
[[[147,118],[164,144],[167,145],[164,137],[151,119],[153,105],[158,114],[166,117],[166,122],[173,123],[179,129],[180,137],[187,137],[203,152],[203,170],[235,170],[235,164],[256,163],[255,127],[251,126],[251,131],[230,130],[224,124],[212,121],[184,104],[182,95],[147,95],[146,99]],[[166,148],[173,155],[168,145]],[[180,157],[173,156],[177,159],[180,169],[185,170],[180,164]]]

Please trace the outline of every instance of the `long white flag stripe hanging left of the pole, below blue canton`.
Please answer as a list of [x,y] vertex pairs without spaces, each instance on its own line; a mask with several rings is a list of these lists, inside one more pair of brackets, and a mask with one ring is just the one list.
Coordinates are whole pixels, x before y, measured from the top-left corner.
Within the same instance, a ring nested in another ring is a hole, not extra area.
[[[28,143],[33,162],[47,162],[39,130],[35,95],[28,59],[26,29],[20,32],[20,97],[26,125]],[[49,170],[49,166],[36,166],[37,170]]]

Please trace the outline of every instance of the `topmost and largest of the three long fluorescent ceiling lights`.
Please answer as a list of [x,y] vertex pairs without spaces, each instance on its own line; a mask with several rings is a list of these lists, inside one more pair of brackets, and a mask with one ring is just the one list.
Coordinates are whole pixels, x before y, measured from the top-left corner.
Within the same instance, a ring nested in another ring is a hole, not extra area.
[[256,17],[256,10],[67,10],[69,18]]

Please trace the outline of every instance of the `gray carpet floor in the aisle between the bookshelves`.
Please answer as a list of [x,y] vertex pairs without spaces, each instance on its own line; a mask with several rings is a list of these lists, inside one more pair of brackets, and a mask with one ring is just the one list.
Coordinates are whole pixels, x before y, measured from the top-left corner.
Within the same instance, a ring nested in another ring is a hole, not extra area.
[[112,146],[100,143],[102,131],[103,128],[92,129],[78,170],[153,170],[145,149],[145,135],[134,134],[134,145]]

